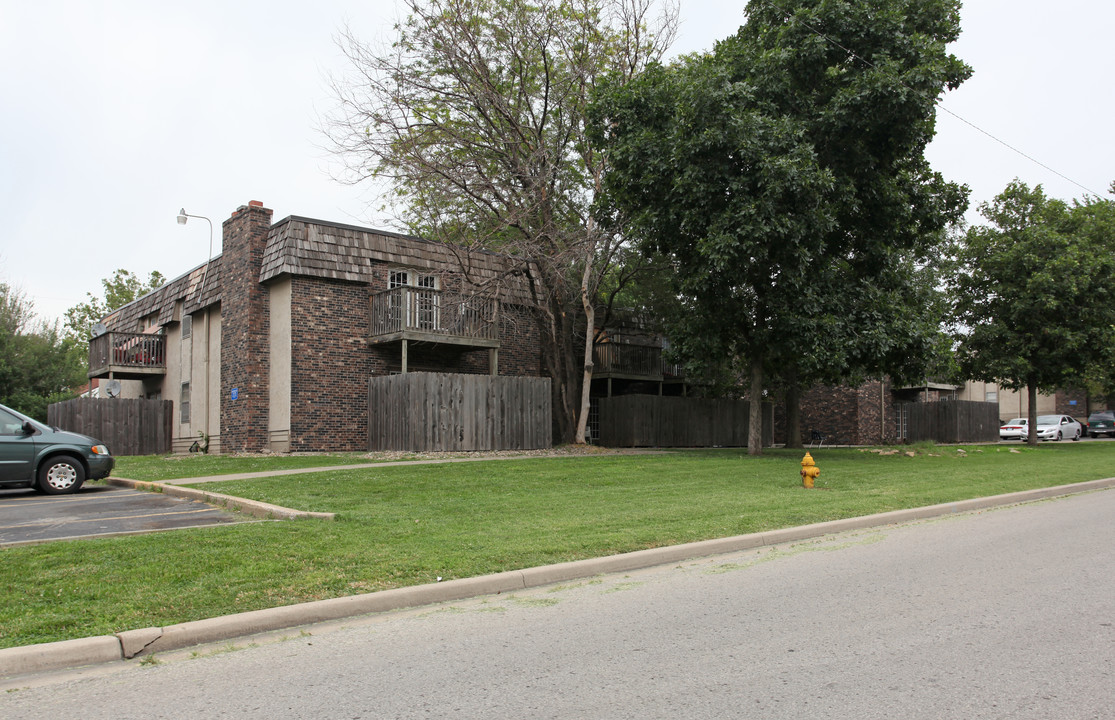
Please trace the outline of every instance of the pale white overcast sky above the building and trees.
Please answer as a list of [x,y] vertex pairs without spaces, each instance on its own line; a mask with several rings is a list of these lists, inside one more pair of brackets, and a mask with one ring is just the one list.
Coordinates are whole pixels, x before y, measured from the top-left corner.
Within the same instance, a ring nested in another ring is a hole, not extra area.
[[[681,0],[675,50],[710,49],[744,7]],[[117,267],[173,279],[210,242],[180,207],[212,218],[214,253],[251,200],[275,220],[382,225],[370,188],[333,179],[318,118],[346,67],[338,31],[386,39],[395,17],[394,0],[0,0],[0,282],[52,319]],[[943,101],[962,119],[939,113],[933,166],[973,207],[1014,177],[1106,194],[1115,3],[968,0],[962,25],[952,51],[975,75]]]

